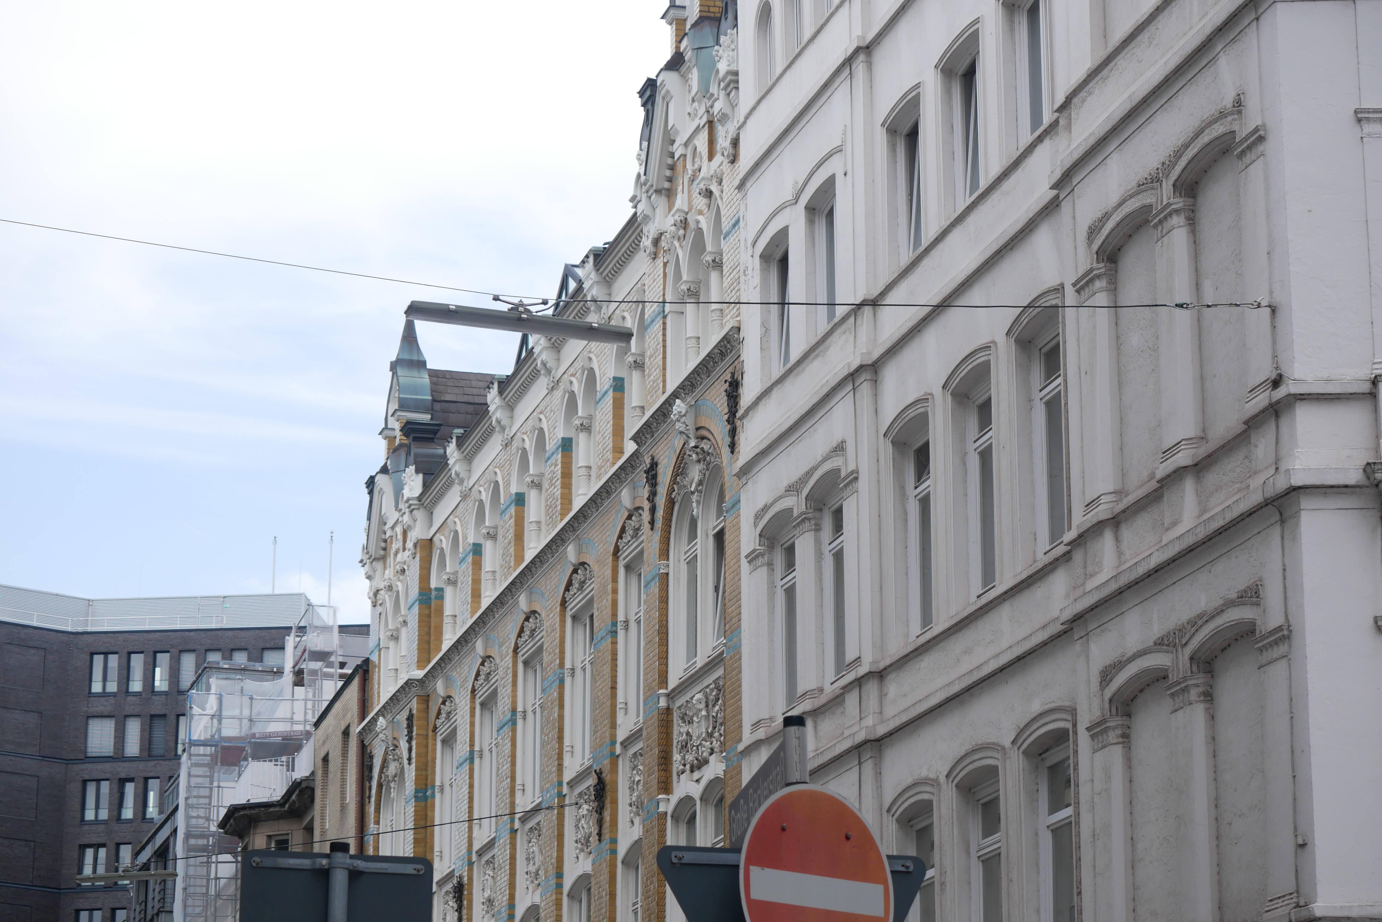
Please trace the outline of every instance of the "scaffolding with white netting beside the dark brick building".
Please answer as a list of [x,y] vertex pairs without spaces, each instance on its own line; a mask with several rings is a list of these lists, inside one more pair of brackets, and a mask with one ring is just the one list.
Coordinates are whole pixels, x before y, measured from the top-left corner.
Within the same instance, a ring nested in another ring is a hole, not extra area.
[[283,652],[285,668],[207,662],[188,691],[178,777],[181,922],[239,918],[239,840],[220,831],[220,820],[231,805],[275,800],[312,771],[312,723],[359,661],[341,650],[334,608],[311,603]]

